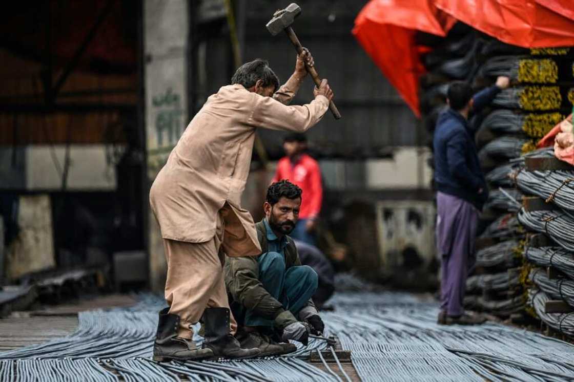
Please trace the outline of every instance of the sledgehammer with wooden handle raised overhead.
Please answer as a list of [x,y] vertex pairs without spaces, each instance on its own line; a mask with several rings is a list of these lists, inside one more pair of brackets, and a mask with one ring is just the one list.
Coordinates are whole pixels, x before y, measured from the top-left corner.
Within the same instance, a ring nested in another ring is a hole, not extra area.
[[[297,38],[295,32],[293,32],[291,24],[293,24],[295,18],[300,14],[301,14],[301,7],[298,6],[296,3],[290,3],[290,5],[285,9],[276,11],[276,13],[273,14],[273,18],[266,25],[267,30],[269,30],[269,32],[273,36],[277,36],[277,34],[281,33],[281,31],[284,30],[287,36],[289,37],[289,40],[291,40],[291,42],[295,46],[295,49],[297,49],[297,53],[299,54],[301,54],[301,52],[303,51],[303,46],[301,45],[301,42]],[[321,77],[319,77],[319,73],[317,73],[315,67],[309,67],[307,63],[305,63],[305,67],[307,67],[307,72],[313,78],[315,85],[319,87],[321,85]],[[339,110],[335,106],[335,103],[333,103],[333,101],[329,102],[329,110],[331,110],[333,116],[335,116],[335,119],[341,118],[341,114],[339,113]]]

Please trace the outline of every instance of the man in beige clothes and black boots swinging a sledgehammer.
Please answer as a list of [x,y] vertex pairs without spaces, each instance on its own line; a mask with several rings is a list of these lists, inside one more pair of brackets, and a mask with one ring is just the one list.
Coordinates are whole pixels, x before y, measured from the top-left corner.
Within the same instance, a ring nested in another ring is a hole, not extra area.
[[[249,212],[241,208],[255,129],[306,131],[327,111],[333,93],[323,80],[315,99],[287,106],[313,65],[304,50],[282,86],[267,61],[243,64],[207,99],[169,155],[150,189],[150,204],[168,264],[165,299],[154,360],[247,358],[235,339],[222,267],[225,256],[257,256],[261,247]],[[191,326],[203,318],[205,341],[197,349]]]

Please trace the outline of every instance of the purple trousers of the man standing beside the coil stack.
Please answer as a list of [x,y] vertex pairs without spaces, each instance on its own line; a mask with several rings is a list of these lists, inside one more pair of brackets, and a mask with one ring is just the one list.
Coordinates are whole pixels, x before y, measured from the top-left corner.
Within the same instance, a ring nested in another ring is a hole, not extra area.
[[468,272],[475,264],[478,210],[456,196],[437,193],[437,250],[441,256],[440,302],[448,315],[464,313]]

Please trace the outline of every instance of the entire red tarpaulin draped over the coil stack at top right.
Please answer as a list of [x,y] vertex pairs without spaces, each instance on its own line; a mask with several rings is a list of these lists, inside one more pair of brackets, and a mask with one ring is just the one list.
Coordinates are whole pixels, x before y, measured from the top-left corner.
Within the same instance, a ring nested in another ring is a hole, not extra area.
[[574,0],[371,0],[353,34],[420,116],[418,78],[424,47],[417,31],[445,36],[456,20],[525,48],[574,46]]

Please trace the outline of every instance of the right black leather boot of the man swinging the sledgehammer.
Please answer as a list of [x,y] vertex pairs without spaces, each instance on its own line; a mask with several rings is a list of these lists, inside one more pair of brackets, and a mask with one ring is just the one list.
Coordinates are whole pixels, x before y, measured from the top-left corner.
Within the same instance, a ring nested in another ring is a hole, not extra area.
[[259,356],[259,349],[242,349],[239,341],[229,332],[230,311],[224,307],[206,308],[204,349],[211,349],[215,357],[251,358]]

